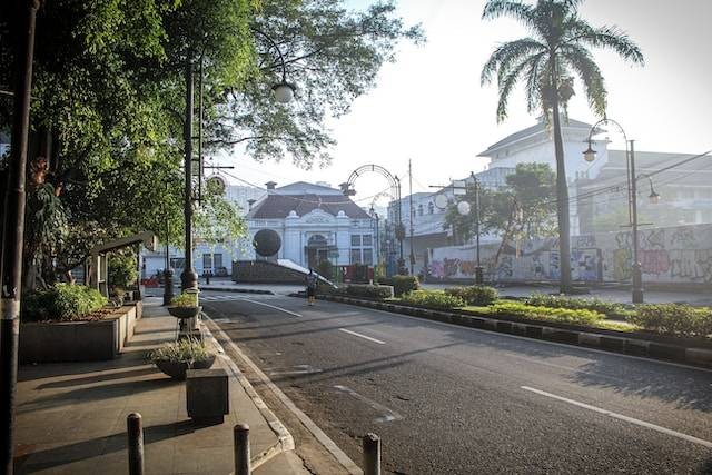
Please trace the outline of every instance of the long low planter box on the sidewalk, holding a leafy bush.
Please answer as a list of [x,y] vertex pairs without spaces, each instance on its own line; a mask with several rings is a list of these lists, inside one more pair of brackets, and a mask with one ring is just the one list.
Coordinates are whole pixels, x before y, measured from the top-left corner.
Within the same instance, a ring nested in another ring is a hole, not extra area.
[[21,324],[20,363],[113,359],[134,336],[139,313],[139,306],[128,306],[97,321]]

